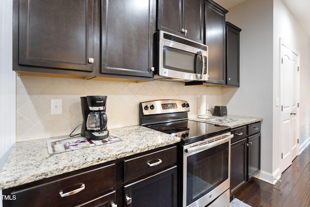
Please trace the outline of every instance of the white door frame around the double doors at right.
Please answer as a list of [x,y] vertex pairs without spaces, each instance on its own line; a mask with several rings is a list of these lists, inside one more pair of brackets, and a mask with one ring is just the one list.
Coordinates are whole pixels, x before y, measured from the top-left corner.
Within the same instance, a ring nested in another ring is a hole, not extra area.
[[[298,107],[297,107],[297,111],[296,111],[296,119],[297,119],[297,123],[296,123],[296,139],[297,139],[297,146],[296,146],[296,156],[299,155],[299,135],[300,135],[300,131],[299,131],[299,103],[300,103],[300,53],[297,49],[295,49],[294,47],[292,47],[290,44],[288,44],[282,37],[279,38],[279,169],[280,169],[280,174],[282,174],[283,169],[282,169],[282,159],[281,159],[281,153],[282,153],[282,139],[281,139],[281,130],[282,130],[282,113],[281,113],[281,47],[284,46],[288,49],[290,49],[292,51],[292,53],[294,53],[297,56],[297,67],[298,67],[298,71],[296,73],[296,102],[298,103]],[[292,158],[292,161],[295,159]]]

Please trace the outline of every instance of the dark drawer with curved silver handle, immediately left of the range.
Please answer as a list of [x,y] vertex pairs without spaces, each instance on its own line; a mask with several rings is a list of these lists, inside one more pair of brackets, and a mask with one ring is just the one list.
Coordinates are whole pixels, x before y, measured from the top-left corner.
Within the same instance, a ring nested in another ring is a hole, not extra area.
[[177,162],[177,147],[160,150],[144,156],[124,160],[124,180],[128,182],[135,178],[158,171]]

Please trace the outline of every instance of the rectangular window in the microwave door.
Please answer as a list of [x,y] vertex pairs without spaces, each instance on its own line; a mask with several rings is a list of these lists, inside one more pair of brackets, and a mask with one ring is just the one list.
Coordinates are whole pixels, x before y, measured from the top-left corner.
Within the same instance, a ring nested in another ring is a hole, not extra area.
[[163,67],[186,73],[202,73],[202,58],[181,49],[163,47]]

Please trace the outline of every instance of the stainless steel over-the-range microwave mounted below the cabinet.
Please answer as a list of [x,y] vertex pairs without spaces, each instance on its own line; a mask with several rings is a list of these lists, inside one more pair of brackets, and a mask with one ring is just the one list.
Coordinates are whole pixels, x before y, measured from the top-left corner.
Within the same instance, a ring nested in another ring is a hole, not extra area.
[[169,32],[157,32],[155,80],[208,80],[208,46]]

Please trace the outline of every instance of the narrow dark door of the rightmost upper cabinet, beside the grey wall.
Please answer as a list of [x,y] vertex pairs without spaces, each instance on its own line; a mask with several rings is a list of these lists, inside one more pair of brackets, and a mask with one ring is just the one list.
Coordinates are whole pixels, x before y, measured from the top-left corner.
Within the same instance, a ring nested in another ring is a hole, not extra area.
[[226,74],[227,85],[240,85],[239,78],[239,53],[240,53],[240,31],[230,22],[226,22]]

